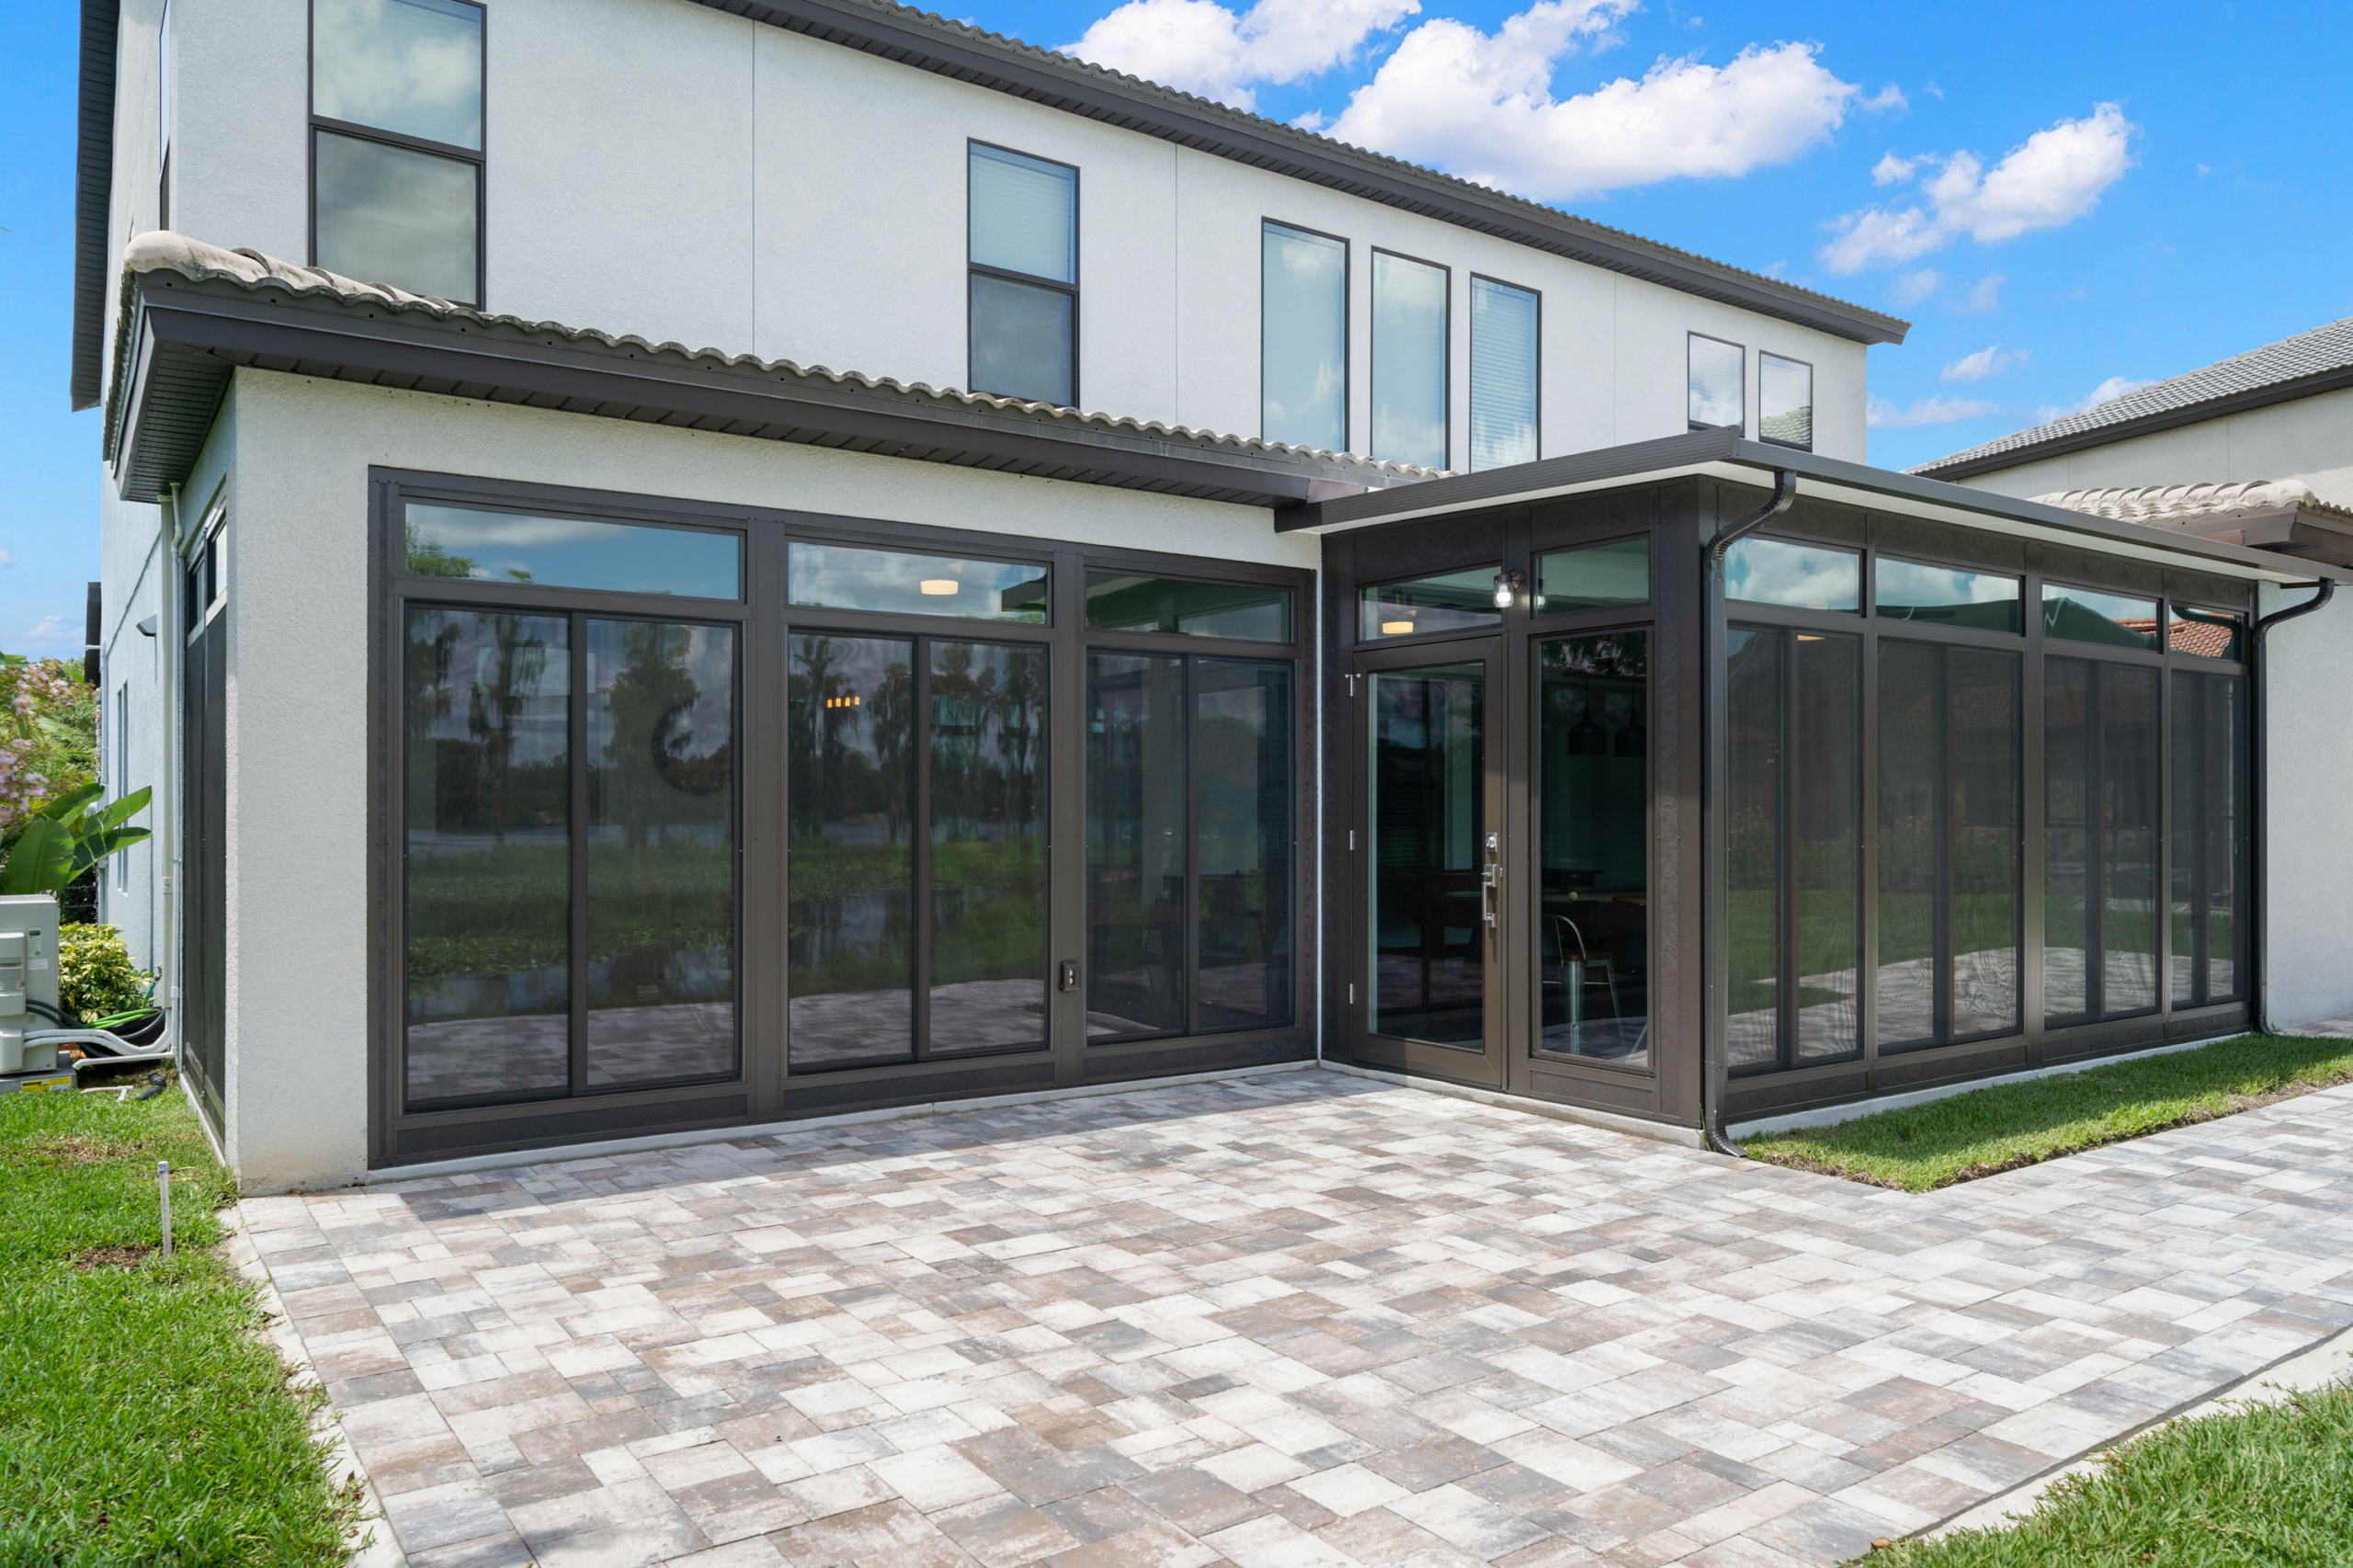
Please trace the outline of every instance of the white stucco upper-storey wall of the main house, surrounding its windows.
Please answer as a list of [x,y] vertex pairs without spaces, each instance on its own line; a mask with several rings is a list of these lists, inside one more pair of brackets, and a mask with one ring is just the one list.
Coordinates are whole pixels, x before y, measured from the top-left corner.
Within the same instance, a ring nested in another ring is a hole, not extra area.
[[[153,221],[158,0],[125,7],[118,207]],[[148,16],[148,35],[139,21]],[[1080,403],[1259,433],[1259,226],[1351,242],[1351,433],[1369,252],[1452,268],[1452,461],[1471,275],[1544,297],[1548,457],[1685,428],[1685,334],[1814,365],[1817,450],[1864,461],[1864,346],[689,0],[487,12],[487,306],[962,386],[967,139],[1080,170]],[[306,0],[176,0],[176,228],[308,257]],[[141,42],[144,38],[144,42]],[[144,61],[144,66],[141,66]],[[139,73],[146,71],[141,78]],[[141,148],[146,148],[141,153]],[[148,191],[139,198],[139,191]]]

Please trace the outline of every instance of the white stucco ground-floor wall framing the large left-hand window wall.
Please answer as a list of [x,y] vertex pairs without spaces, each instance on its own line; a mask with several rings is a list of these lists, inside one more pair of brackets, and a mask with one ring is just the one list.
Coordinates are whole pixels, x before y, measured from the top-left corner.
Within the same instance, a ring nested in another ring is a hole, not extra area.
[[[240,370],[228,643],[228,1128],[247,1187],[367,1161],[369,464],[1294,567],[1219,501]],[[191,487],[195,494],[195,487]]]

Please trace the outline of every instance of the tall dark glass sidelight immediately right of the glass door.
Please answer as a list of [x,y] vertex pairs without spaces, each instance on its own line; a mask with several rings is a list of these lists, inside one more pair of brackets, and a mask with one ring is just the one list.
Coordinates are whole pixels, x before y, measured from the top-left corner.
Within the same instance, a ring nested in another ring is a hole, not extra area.
[[1649,636],[1537,645],[1541,1050],[1649,1067]]

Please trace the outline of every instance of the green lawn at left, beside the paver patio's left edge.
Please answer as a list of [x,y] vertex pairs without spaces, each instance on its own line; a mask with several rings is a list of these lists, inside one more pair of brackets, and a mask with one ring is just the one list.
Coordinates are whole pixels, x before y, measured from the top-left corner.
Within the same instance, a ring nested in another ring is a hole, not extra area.
[[[169,1260],[151,1250],[160,1158]],[[0,1095],[0,1563],[344,1561],[355,1500],[311,1441],[318,1394],[287,1389],[216,1255],[233,1198],[176,1085]]]

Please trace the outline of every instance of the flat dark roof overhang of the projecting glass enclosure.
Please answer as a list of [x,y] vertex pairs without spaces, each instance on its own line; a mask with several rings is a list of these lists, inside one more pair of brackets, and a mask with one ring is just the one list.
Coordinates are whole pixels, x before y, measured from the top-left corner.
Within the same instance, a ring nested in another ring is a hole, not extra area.
[[1275,520],[1278,530],[1344,532],[1381,523],[1442,518],[1487,506],[1525,506],[1598,490],[1626,490],[1673,478],[1718,478],[1734,485],[1772,490],[1774,473],[1798,476],[1798,494],[1882,513],[1955,523],[1981,532],[2094,549],[2108,556],[2151,560],[2169,567],[2193,567],[2249,582],[2308,584],[2313,577],[2353,582],[2353,570],[2322,560],[2287,558],[2268,549],[2249,549],[2224,539],[2184,534],[2172,527],[2120,523],[2040,501],[1972,490],[1946,480],[1918,478],[1892,469],[1871,469],[1814,452],[1795,452],[1734,431],[1692,431],[1664,440],[1642,440],[1598,452],[1572,452],[1511,469],[1459,473],[1424,480],[1400,490],[1337,497]]

